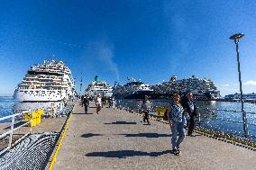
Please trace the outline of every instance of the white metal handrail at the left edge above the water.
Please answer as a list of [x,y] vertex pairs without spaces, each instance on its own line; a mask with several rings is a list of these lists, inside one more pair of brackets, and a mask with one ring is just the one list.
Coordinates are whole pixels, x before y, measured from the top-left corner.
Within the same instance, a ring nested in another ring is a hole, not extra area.
[[[3,133],[3,134],[0,135],[0,140],[1,140],[1,139],[4,139],[7,135],[10,135],[10,137],[8,138],[8,139],[9,139],[8,146],[0,151],[0,156],[1,156],[2,154],[4,154],[5,151],[7,151],[8,149],[10,149],[10,148],[12,147],[14,130],[18,130],[18,129],[22,128],[23,126],[25,126],[25,125],[31,123],[31,130],[30,130],[30,132],[29,132],[29,133],[31,133],[31,131],[32,131],[32,117],[31,117],[31,121],[25,122],[25,123],[23,123],[22,125],[20,125],[20,126],[14,128],[15,117],[16,117],[16,116],[23,115],[23,114],[25,114],[25,113],[27,113],[27,112],[33,112],[33,111],[32,111],[32,110],[23,111],[23,112],[15,113],[15,114],[12,114],[12,115],[5,116],[5,117],[0,118],[0,121],[4,121],[4,120],[6,120],[6,119],[12,118],[12,124],[11,124],[10,130],[8,130],[8,131],[6,131],[5,133]],[[22,137],[21,139],[23,139],[23,138],[24,138],[25,136],[27,136],[29,133],[26,133],[25,135],[23,135],[23,137]],[[18,141],[20,141],[21,139],[18,139]]]

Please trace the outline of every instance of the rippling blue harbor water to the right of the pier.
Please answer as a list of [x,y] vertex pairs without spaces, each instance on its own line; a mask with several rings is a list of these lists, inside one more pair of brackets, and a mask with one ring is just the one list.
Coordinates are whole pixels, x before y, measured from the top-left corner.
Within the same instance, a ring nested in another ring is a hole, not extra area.
[[[152,106],[169,105],[169,101],[152,100],[151,103]],[[201,127],[243,136],[241,103],[216,101],[197,101],[196,103],[200,112],[200,121],[197,121],[197,124]],[[117,100],[116,105],[138,112],[142,100]],[[226,110],[237,112],[227,112]],[[244,110],[248,112],[248,130],[251,138],[254,139],[256,137],[256,113],[253,112],[256,112],[256,104],[244,103]],[[154,113],[156,112],[151,112],[151,114]]]

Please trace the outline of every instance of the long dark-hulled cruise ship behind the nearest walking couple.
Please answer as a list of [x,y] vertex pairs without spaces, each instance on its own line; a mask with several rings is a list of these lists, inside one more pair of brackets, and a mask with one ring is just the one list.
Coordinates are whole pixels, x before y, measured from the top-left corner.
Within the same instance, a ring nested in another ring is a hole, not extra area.
[[171,76],[169,82],[161,85],[153,85],[154,91],[162,96],[170,97],[174,92],[186,93],[188,90],[194,94],[197,100],[220,99],[220,91],[217,90],[215,83],[207,78],[191,76],[177,80],[177,76]]

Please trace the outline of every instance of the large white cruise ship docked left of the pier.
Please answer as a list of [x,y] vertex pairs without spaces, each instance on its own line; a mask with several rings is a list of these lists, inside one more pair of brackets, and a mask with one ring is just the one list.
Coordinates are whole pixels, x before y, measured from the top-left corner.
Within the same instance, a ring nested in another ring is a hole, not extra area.
[[17,85],[14,99],[20,102],[57,102],[74,98],[75,80],[62,61],[47,61],[32,66]]

